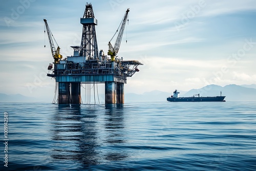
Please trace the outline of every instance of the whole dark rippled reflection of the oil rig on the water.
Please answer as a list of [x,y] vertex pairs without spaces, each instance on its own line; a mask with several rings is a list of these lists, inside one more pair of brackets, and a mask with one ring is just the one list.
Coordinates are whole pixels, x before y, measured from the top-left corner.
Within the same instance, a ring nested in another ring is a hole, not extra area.
[[52,117],[51,157],[88,167],[127,158],[123,105],[58,104]]

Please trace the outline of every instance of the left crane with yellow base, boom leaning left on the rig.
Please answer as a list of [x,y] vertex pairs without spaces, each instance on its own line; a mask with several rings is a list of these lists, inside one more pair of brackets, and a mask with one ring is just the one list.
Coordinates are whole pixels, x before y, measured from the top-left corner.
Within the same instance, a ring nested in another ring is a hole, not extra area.
[[[51,30],[50,30],[48,24],[47,24],[47,20],[44,19],[44,22],[45,22],[45,24],[46,24],[46,30],[47,30],[47,34],[48,34],[48,38],[49,38],[49,42],[50,42],[50,47],[51,47],[51,51],[52,51],[52,57],[54,58],[54,63],[58,63],[58,62],[59,62],[59,59],[62,59],[62,55],[61,55],[60,52],[59,52],[59,51],[60,51],[60,48],[59,48],[59,46],[58,46],[58,44],[57,44],[55,38],[53,37],[53,34],[52,34],[52,32],[51,32]],[[46,33],[46,31],[45,31],[45,33]],[[54,47],[52,37],[53,37],[54,41],[56,42],[56,44],[57,44],[57,46],[58,46],[57,49],[55,49],[55,47]],[[46,46],[45,46],[45,47],[46,47]]]

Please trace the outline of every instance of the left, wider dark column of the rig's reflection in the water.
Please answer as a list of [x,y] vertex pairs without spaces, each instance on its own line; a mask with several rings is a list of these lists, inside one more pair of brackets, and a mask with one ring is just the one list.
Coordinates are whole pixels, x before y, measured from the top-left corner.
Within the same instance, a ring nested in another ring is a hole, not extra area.
[[91,165],[97,163],[97,130],[94,110],[81,114],[80,105],[59,104],[53,117],[54,159],[78,160]]

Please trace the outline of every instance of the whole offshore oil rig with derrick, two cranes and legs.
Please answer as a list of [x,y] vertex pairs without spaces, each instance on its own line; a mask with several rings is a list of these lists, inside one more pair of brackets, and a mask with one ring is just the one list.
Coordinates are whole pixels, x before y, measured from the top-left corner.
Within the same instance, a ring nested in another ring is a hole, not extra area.
[[[48,70],[52,73],[47,76],[56,80],[55,97],[53,103],[59,104],[80,104],[81,84],[105,83],[105,104],[124,103],[124,83],[127,77],[132,77],[139,71],[139,65],[143,65],[137,60],[123,60],[117,58],[121,40],[129,13],[126,10],[124,17],[117,29],[117,38],[114,47],[109,41],[108,55],[104,55],[102,50],[98,51],[95,26],[97,19],[94,17],[92,4],[86,5],[80,23],[83,26],[80,46],[71,46],[74,49],[72,56],[62,59],[59,46],[54,46],[53,34],[44,19],[54,65],[50,64]],[[46,31],[45,31],[46,32]],[[56,40],[55,40],[56,42]],[[86,91],[90,95],[90,92]],[[57,94],[57,95],[56,95]],[[94,95],[95,96],[95,95]]]

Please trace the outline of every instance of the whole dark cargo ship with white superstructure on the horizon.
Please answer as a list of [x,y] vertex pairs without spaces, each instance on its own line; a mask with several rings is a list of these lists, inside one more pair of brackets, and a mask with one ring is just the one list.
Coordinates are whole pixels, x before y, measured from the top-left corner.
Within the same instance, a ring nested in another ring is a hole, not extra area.
[[195,94],[192,97],[179,97],[180,92],[177,90],[174,91],[174,94],[170,97],[167,97],[167,101],[172,102],[190,102],[190,101],[225,101],[226,96],[215,96],[215,97],[200,97],[200,94]]

